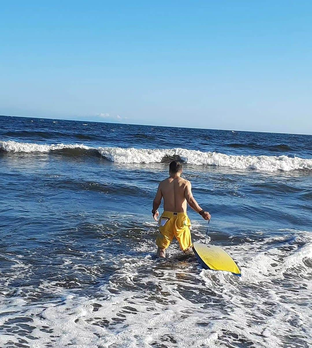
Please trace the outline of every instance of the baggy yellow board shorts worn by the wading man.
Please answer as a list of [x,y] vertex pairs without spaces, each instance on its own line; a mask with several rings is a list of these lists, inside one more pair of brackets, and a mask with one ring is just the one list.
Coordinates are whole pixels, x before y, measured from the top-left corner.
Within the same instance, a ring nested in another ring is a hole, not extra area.
[[156,244],[162,249],[166,249],[173,237],[180,243],[182,251],[192,246],[190,220],[186,213],[173,213],[164,211],[159,218],[159,233]]

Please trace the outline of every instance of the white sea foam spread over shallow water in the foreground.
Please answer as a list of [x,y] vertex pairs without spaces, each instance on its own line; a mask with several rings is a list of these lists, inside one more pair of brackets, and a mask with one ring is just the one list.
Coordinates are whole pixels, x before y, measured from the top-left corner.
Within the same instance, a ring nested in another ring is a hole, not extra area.
[[[120,258],[91,298],[80,295],[79,288],[69,290],[59,282],[41,280],[40,290],[49,289],[62,301],[38,306],[19,294],[7,297],[5,304],[0,303],[0,325],[5,328],[0,345],[20,342],[15,319],[16,313],[22,313],[22,319],[29,320],[23,329],[30,331],[22,338],[31,347],[61,348],[69,342],[77,348],[162,343],[167,347],[308,347],[312,311],[305,264],[311,256],[307,233],[300,231],[291,248],[284,248],[289,236],[224,247],[239,262],[241,278],[200,267],[194,271],[181,262],[169,267],[167,261],[159,263],[150,255],[134,253]],[[134,251],[142,252],[141,247]],[[146,249],[151,247],[154,243]],[[171,248],[178,250],[178,245]],[[7,332],[9,326],[14,335]]]

